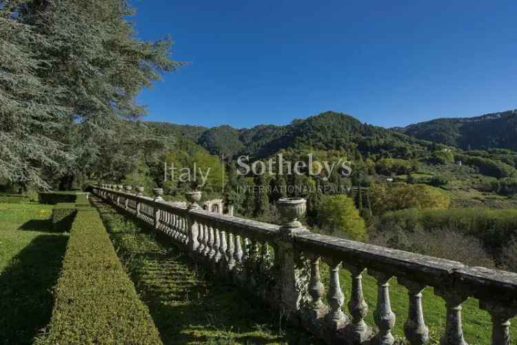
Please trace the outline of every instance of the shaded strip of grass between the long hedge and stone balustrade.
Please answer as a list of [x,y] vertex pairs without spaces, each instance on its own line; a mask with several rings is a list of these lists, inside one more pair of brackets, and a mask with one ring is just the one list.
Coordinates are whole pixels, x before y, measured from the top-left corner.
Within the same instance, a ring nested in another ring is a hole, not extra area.
[[164,344],[318,344],[254,297],[196,268],[165,237],[97,206]]

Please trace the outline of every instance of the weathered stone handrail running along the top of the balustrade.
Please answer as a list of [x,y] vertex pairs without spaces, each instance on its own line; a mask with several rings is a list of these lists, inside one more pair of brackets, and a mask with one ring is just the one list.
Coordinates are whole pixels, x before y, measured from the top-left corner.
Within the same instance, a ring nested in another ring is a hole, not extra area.
[[[159,208],[172,212],[178,210],[190,215],[194,221],[199,221],[201,224],[233,231],[247,237],[259,237],[261,241],[274,240],[282,233],[281,227],[274,224],[212,213],[201,208],[187,210],[179,204],[154,201],[150,197],[139,197],[108,188],[99,189],[115,195],[125,195],[131,199],[140,199],[146,203],[154,203]],[[452,289],[457,293],[478,299],[489,298],[517,304],[517,273],[469,267],[447,259],[310,233],[307,230],[294,232],[289,238],[304,253],[335,259],[343,264],[368,268],[427,286]]]

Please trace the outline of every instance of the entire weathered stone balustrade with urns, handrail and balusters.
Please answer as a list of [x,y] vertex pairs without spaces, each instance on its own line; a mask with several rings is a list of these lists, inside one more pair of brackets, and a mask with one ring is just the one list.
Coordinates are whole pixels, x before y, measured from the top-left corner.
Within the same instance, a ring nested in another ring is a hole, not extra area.
[[[397,320],[389,283],[395,279],[407,288],[404,332],[409,344],[429,341],[422,306],[426,288],[434,288],[447,307],[441,345],[467,344],[461,306],[469,297],[478,299],[480,308],[491,315],[491,344],[511,342],[509,319],[517,315],[515,273],[311,233],[296,219],[305,212],[303,199],[278,204],[284,225],[277,226],[203,210],[197,204],[201,193],[189,193],[184,207],[163,201],[163,190],[154,190],[151,198],[141,196],[141,188],[135,195],[119,187],[96,186],[93,192],[170,236],[192,259],[280,309],[327,344],[394,344]],[[321,279],[322,266],[329,273],[327,286]],[[349,291],[340,286],[342,269],[352,279]],[[368,310],[363,295],[366,272],[376,279],[374,311]],[[365,322],[368,313],[373,313],[375,324]]]

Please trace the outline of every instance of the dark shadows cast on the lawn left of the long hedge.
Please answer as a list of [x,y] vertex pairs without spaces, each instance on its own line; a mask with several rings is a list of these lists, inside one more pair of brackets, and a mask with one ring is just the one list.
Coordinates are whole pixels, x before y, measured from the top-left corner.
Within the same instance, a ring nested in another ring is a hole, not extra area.
[[[40,224],[39,220],[28,223]],[[50,321],[52,287],[61,271],[67,240],[63,235],[39,235],[1,273],[0,344],[32,344]]]

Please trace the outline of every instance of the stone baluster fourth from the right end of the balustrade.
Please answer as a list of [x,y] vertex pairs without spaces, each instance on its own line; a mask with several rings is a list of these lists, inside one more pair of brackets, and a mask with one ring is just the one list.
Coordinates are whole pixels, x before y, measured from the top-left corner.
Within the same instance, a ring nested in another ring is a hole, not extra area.
[[377,279],[377,308],[374,311],[374,321],[379,332],[375,335],[373,343],[392,345],[395,342],[392,329],[396,320],[389,299],[389,280],[392,279],[392,276],[373,270],[369,270],[369,274]]

